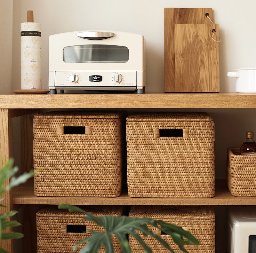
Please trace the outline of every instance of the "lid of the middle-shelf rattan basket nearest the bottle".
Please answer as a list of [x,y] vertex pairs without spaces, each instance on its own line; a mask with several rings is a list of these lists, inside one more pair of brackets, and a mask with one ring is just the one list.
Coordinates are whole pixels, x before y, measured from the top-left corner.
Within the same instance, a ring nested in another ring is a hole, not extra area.
[[127,121],[212,121],[212,117],[201,112],[134,113]]

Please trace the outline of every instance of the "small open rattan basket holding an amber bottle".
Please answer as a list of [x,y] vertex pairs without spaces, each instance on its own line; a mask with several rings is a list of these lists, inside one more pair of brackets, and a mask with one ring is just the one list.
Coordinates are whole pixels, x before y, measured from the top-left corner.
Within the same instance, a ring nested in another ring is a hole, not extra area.
[[256,196],[256,155],[240,155],[240,148],[228,148],[227,185],[236,197]]

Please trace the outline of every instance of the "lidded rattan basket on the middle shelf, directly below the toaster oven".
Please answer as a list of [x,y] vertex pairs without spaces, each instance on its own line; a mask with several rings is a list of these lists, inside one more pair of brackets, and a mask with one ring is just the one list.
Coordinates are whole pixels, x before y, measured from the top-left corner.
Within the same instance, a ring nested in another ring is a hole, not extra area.
[[124,134],[119,112],[35,115],[35,195],[119,196]]

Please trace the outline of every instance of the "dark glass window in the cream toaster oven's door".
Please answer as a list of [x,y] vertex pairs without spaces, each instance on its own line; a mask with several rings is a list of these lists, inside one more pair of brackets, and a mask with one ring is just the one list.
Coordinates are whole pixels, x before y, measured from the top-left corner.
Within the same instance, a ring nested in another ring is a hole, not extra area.
[[78,45],[63,49],[66,63],[127,62],[129,49],[116,45]]

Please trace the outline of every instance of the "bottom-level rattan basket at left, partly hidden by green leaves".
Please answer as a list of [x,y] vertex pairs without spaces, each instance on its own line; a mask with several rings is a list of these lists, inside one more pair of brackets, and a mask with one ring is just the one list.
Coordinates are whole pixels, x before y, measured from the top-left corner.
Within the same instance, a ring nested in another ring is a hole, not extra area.
[[[86,206],[83,209],[92,212],[96,217],[115,216],[120,217],[123,214],[122,206]],[[38,253],[72,253],[76,242],[91,236],[91,233],[83,231],[104,231],[93,221],[83,219],[86,214],[81,212],[68,212],[67,210],[40,210],[36,213],[37,230],[37,252]],[[112,237],[114,252],[122,252],[121,245],[116,236]],[[75,252],[79,252],[84,244],[77,247]],[[99,250],[105,252],[105,246]]]

